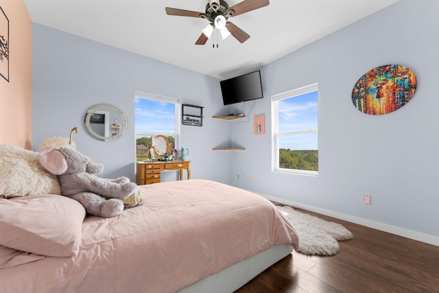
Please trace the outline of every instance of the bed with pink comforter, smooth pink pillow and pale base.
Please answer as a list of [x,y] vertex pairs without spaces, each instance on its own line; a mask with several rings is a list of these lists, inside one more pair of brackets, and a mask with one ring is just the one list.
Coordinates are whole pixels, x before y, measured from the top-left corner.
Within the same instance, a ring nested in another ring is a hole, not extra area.
[[70,198],[0,199],[1,292],[233,292],[298,246],[265,198],[211,180],[141,185],[115,218]]

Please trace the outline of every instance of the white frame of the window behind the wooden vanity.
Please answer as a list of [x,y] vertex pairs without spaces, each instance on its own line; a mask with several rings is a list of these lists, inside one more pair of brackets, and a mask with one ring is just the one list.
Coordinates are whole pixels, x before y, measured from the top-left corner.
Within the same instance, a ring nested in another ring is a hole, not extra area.
[[[181,113],[181,103],[180,103],[180,99],[176,99],[174,97],[164,97],[162,95],[153,95],[150,93],[142,93],[139,91],[134,92],[134,102],[135,99],[137,97],[143,98],[143,99],[152,99],[154,101],[158,101],[158,102],[166,102],[166,103],[172,103],[175,104],[175,113],[174,113],[174,130],[176,131],[175,133],[173,132],[149,132],[149,131],[135,131],[136,129],[136,121],[134,120],[134,154],[136,154],[137,152],[137,143],[135,143],[137,141],[137,137],[138,136],[145,136],[145,137],[155,137],[156,135],[164,135],[165,137],[175,137],[175,145],[174,148],[178,149],[180,148],[180,113]],[[135,103],[134,103],[135,104]],[[135,111],[135,106],[134,106],[134,111]]]

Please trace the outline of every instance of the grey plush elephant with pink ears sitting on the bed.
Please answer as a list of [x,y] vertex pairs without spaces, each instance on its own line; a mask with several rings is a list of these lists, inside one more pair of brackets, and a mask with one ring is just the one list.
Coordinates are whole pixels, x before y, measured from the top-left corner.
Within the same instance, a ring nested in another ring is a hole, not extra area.
[[137,188],[126,177],[95,176],[102,172],[104,165],[94,163],[72,148],[44,148],[38,153],[38,159],[47,171],[58,176],[62,196],[78,200],[91,215],[105,218],[119,215],[123,211],[121,200]]

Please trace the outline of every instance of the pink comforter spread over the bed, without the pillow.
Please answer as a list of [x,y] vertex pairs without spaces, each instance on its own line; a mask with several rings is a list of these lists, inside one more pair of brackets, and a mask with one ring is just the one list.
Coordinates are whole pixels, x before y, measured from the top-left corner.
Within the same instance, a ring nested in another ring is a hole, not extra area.
[[143,206],[84,220],[80,252],[0,270],[1,292],[176,292],[277,244],[297,248],[274,205],[208,180],[143,185]]

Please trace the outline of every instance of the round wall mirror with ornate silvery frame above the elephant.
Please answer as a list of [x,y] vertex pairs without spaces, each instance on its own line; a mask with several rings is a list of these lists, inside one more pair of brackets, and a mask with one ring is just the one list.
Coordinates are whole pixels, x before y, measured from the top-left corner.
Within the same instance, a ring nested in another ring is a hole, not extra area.
[[115,106],[99,104],[88,109],[85,127],[97,139],[114,141],[125,134],[126,117]]

